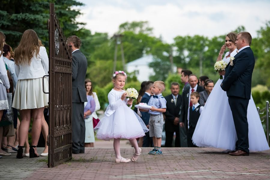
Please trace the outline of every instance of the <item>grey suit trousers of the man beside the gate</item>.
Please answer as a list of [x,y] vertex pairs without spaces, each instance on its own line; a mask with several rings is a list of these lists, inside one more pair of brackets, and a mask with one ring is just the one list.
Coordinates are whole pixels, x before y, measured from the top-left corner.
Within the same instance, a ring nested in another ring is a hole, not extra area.
[[84,103],[72,103],[72,153],[84,153],[85,122]]

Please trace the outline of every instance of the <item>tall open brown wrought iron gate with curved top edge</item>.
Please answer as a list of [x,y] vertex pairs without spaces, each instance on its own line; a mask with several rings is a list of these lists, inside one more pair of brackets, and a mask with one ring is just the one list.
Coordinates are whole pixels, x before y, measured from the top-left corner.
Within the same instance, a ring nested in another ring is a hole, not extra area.
[[49,25],[49,157],[48,167],[72,158],[72,64],[71,48],[50,3]]

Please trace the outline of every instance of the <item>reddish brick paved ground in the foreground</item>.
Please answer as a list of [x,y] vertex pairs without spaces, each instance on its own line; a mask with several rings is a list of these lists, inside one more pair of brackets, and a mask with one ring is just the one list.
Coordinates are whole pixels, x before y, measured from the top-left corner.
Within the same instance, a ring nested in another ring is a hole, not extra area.
[[[0,159],[0,179],[270,179],[270,150],[241,157],[214,148],[162,148],[163,155],[148,155],[149,150],[143,148],[135,163],[114,163],[114,149],[88,148],[54,168],[47,168],[44,157],[16,159],[12,154]],[[133,153],[121,149],[125,158]]]

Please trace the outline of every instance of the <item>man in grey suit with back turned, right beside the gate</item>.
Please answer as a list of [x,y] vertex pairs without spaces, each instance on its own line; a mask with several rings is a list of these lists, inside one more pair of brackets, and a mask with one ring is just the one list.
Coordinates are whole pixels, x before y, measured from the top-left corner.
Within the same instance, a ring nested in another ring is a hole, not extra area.
[[67,39],[72,49],[72,153],[84,153],[85,122],[84,102],[87,102],[84,80],[87,70],[86,57],[80,52],[81,40],[77,36]]

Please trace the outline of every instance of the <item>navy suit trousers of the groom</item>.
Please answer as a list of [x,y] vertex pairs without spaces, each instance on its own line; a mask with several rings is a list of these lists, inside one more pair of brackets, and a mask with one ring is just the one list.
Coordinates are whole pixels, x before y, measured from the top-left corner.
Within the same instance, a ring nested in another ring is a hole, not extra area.
[[232,117],[235,125],[238,140],[235,144],[236,150],[242,150],[249,153],[248,144],[248,123],[247,123],[247,106],[249,99],[235,96],[229,96],[229,105],[232,110]]

